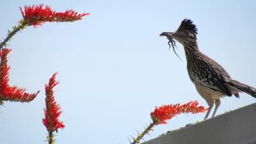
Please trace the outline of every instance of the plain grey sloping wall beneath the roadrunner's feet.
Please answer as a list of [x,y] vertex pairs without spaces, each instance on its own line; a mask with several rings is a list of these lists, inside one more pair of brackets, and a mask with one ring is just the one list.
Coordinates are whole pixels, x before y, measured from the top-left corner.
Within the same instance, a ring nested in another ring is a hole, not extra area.
[[256,144],[256,103],[143,144]]

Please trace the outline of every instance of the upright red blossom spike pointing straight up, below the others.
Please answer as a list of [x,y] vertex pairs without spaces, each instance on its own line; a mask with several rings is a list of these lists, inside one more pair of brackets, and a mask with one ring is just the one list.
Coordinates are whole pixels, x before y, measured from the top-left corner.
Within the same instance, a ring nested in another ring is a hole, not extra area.
[[43,118],[43,124],[45,125],[48,132],[58,131],[60,128],[64,128],[65,125],[63,122],[60,122],[58,119],[61,111],[60,106],[55,102],[54,95],[53,95],[53,88],[59,82],[55,80],[56,74],[54,73],[53,76],[49,79],[49,84],[45,84],[45,106],[44,114],[45,118]]

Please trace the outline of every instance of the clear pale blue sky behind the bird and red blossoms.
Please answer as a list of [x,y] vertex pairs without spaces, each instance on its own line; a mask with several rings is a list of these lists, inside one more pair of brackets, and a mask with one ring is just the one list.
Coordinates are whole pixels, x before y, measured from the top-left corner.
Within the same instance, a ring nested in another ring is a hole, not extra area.
[[[41,90],[30,103],[5,102],[0,108],[3,144],[43,144],[44,84],[59,72],[55,97],[66,127],[56,144],[129,143],[150,122],[161,104],[199,100],[189,80],[182,45],[168,51],[163,31],[175,31],[189,18],[198,26],[200,50],[218,61],[230,76],[256,87],[255,1],[14,1],[1,0],[1,38],[22,18],[19,6],[48,4],[52,10],[90,12],[74,23],[47,23],[27,28],[9,43],[10,84]],[[221,99],[218,115],[256,102]],[[205,113],[180,115],[157,126],[145,140],[203,120]]]

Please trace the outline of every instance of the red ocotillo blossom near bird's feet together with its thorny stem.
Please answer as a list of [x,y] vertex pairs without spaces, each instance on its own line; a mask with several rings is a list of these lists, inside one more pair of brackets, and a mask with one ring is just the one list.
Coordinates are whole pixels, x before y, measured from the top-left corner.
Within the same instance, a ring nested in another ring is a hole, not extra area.
[[170,104],[156,107],[156,109],[150,113],[153,122],[147,125],[143,132],[138,132],[137,138],[132,137],[132,142],[130,140],[129,141],[131,144],[140,143],[140,140],[143,139],[143,136],[152,131],[154,126],[159,124],[166,124],[166,120],[170,120],[180,113],[204,113],[206,110],[207,109],[205,109],[203,106],[198,106],[198,102],[196,100],[182,104],[181,106],[180,104]]

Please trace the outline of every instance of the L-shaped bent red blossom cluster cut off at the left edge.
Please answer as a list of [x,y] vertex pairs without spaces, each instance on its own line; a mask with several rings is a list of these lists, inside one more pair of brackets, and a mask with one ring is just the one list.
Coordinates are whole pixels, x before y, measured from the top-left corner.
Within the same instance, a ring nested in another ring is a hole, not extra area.
[[39,93],[29,94],[24,88],[17,88],[17,86],[10,86],[9,82],[9,70],[7,62],[7,55],[11,51],[11,49],[1,49],[0,57],[0,101],[9,100],[9,101],[17,101],[17,102],[30,102],[35,99],[36,95]]

